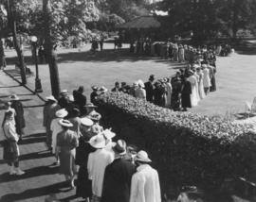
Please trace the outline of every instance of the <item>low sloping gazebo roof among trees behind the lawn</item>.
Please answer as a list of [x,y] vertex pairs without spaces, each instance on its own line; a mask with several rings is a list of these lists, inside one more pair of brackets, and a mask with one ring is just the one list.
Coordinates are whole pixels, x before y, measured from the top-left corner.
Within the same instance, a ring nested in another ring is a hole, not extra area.
[[125,24],[119,25],[118,28],[158,28],[160,23],[155,16],[140,16]]

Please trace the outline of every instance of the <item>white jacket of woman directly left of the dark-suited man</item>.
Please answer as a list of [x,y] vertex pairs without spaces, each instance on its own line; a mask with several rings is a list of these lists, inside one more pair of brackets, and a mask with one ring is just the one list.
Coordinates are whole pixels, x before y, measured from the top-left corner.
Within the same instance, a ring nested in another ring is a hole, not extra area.
[[114,160],[114,155],[107,149],[98,149],[89,154],[87,169],[92,179],[92,193],[101,197],[105,168]]

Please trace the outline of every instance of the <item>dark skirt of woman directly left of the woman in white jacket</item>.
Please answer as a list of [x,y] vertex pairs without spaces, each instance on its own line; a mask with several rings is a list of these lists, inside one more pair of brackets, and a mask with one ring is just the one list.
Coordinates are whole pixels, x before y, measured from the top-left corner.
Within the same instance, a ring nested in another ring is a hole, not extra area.
[[88,179],[86,166],[81,166],[79,169],[76,194],[83,198],[92,196],[92,180]]

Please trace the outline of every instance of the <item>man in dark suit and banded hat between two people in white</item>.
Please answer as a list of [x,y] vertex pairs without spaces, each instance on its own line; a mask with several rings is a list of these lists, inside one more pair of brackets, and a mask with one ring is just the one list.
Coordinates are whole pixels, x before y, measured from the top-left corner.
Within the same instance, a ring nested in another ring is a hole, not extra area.
[[119,140],[113,150],[115,160],[105,169],[101,202],[129,202],[135,165],[123,159],[126,154],[126,143],[123,140]]

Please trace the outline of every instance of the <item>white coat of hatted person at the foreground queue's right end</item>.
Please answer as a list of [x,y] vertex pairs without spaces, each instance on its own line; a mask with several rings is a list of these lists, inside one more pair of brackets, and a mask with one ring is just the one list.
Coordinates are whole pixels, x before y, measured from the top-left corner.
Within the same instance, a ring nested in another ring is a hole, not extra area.
[[130,202],[161,202],[158,173],[150,165],[137,167],[132,177]]

